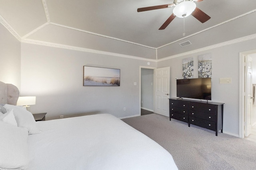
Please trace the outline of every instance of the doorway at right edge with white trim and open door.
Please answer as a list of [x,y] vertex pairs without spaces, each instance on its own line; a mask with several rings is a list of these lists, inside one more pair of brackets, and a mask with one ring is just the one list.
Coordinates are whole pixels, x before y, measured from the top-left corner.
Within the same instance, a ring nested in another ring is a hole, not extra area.
[[239,137],[248,138],[256,133],[256,50],[240,53],[239,85]]

